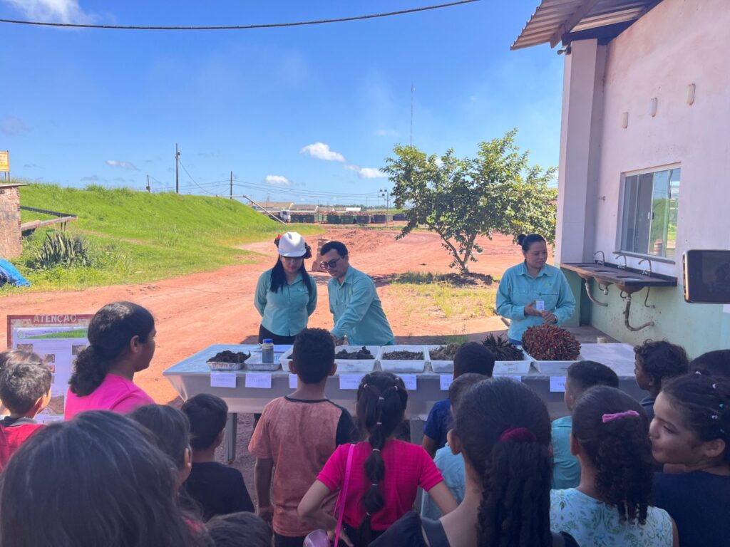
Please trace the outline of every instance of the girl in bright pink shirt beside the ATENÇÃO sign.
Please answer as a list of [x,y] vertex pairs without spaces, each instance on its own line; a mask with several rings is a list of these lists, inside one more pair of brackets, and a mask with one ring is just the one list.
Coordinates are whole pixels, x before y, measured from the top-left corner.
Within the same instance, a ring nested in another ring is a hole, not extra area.
[[134,385],[134,373],[150,366],[155,354],[155,319],[139,304],[112,302],[96,312],[89,346],[76,358],[64,417],[90,410],[127,414],[155,401]]

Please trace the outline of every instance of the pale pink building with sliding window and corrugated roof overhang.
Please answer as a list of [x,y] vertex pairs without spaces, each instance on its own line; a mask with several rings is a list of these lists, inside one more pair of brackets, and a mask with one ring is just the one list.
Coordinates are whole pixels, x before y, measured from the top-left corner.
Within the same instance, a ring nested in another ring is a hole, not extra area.
[[[729,249],[728,0],[542,0],[512,49],[562,43],[556,263],[606,261],[677,278],[633,295],[631,332],[615,285],[566,276],[574,324],[618,340],[682,344],[691,356],[730,347],[730,306],[683,299],[682,255]],[[548,51],[545,55],[548,55]],[[553,53],[554,55],[554,53]]]

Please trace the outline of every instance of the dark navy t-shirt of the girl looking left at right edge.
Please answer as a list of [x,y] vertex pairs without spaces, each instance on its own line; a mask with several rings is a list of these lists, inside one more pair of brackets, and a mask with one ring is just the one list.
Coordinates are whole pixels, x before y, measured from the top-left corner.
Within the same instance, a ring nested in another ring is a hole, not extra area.
[[726,547],[730,541],[730,476],[704,471],[656,473],[656,506],[675,519],[682,547]]

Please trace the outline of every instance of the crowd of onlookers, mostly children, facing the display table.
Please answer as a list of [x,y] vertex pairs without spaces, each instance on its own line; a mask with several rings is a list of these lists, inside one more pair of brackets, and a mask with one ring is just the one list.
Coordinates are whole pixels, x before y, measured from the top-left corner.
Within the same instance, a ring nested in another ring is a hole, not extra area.
[[50,400],[49,368],[31,352],[0,353],[0,547],[309,547],[328,535],[351,547],[712,547],[730,538],[730,350],[690,362],[666,341],[637,346],[641,402],[607,366],[576,362],[570,414],[551,423],[539,395],[491,378],[491,352],[464,344],[418,446],[399,439],[404,382],[364,376],[353,419],[325,395],[337,371],[331,335],[305,329],[292,352],[297,388],[266,405],[250,441],[254,505],[242,474],[215,459],[226,403],[201,394],[178,410],[134,385],[154,336],[142,306],[104,306],[70,381],[68,419],[47,426],[34,418]]

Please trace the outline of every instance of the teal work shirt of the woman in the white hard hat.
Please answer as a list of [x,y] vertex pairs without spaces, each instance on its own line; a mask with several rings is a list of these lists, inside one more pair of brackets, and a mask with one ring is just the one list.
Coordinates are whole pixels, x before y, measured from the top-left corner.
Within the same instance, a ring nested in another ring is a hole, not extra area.
[[317,284],[312,276],[310,284],[311,294],[299,273],[292,284],[272,292],[272,270],[261,274],[253,299],[253,305],[261,314],[261,326],[280,336],[293,336],[307,328],[307,321],[317,307]]

